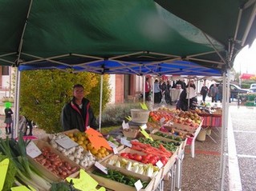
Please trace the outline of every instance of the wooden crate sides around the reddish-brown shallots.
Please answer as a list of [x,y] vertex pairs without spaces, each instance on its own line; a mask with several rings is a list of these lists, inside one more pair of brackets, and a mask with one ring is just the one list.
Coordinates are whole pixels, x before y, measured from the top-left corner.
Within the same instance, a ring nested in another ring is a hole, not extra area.
[[[34,140],[33,141],[35,143],[35,145],[37,145],[37,147],[42,151],[43,147],[47,146],[50,151],[52,153],[55,153],[57,155],[59,155],[59,158],[62,159],[62,161],[67,161],[72,168],[76,167],[77,171],[73,174],[71,174],[71,176],[69,177],[77,177],[79,175],[79,169],[80,166],[77,165],[74,161],[71,161],[69,158],[67,158],[66,156],[64,156],[62,153],[60,153],[58,150],[54,149],[51,147],[51,145],[49,145],[46,141],[42,141],[42,140]],[[63,181],[62,177],[59,177],[58,175],[56,175],[55,173],[52,173],[49,169],[47,169],[44,165],[40,164],[38,161],[35,161],[34,158],[28,156],[28,159],[31,163],[33,163],[37,169],[39,169],[46,177],[48,177],[50,180],[52,181]]]

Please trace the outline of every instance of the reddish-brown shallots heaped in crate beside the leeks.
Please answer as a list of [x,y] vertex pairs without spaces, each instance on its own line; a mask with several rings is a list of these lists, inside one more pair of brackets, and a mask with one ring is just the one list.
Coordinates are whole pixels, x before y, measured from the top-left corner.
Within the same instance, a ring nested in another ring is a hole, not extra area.
[[77,166],[71,167],[67,161],[63,161],[59,155],[51,152],[51,149],[47,146],[43,147],[42,154],[35,157],[35,161],[40,165],[45,166],[49,171],[55,173],[58,177],[69,177],[72,173],[75,173]]

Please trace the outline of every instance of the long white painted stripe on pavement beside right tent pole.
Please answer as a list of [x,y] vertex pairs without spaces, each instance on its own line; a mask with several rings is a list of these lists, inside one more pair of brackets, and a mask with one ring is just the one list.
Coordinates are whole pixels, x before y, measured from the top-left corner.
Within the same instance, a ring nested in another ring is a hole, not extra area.
[[237,149],[234,141],[234,129],[231,121],[231,115],[229,113],[229,122],[227,129],[228,136],[228,151],[229,151],[229,174],[230,174],[230,190],[240,191],[242,190],[242,183],[238,165]]

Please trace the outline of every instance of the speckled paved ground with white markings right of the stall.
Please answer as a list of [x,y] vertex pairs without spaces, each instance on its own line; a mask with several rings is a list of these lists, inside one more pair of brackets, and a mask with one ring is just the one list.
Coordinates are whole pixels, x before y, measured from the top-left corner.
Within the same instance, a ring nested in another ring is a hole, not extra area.
[[[229,141],[234,137],[234,143],[230,143],[226,153],[226,171],[223,190],[250,191],[256,188],[256,107],[238,107],[235,102],[230,105],[232,125]],[[0,136],[5,137],[3,117],[0,117]],[[210,191],[220,190],[221,185],[221,133],[213,129],[217,134],[211,136],[217,141],[214,143],[209,137],[205,141],[196,141],[195,157],[190,155],[189,146],[185,149],[183,160],[181,190],[184,191]],[[42,137],[43,130],[35,129],[34,135]],[[236,164],[238,161],[238,164]],[[165,190],[169,190],[165,182]]]

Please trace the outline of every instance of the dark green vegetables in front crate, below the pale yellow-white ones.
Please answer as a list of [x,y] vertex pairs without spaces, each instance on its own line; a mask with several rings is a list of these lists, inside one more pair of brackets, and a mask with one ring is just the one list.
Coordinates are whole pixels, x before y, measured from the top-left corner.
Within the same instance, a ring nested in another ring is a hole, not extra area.
[[[136,181],[139,180],[139,178],[128,176],[124,173],[120,173],[119,171],[113,169],[108,169],[108,174],[103,173],[99,169],[95,169],[92,173],[100,177],[105,177],[113,181],[118,181],[124,185],[129,185],[132,187],[135,187],[134,184],[136,183]],[[146,188],[146,186],[148,185],[148,181],[142,181],[141,183],[143,185],[143,188]]]

